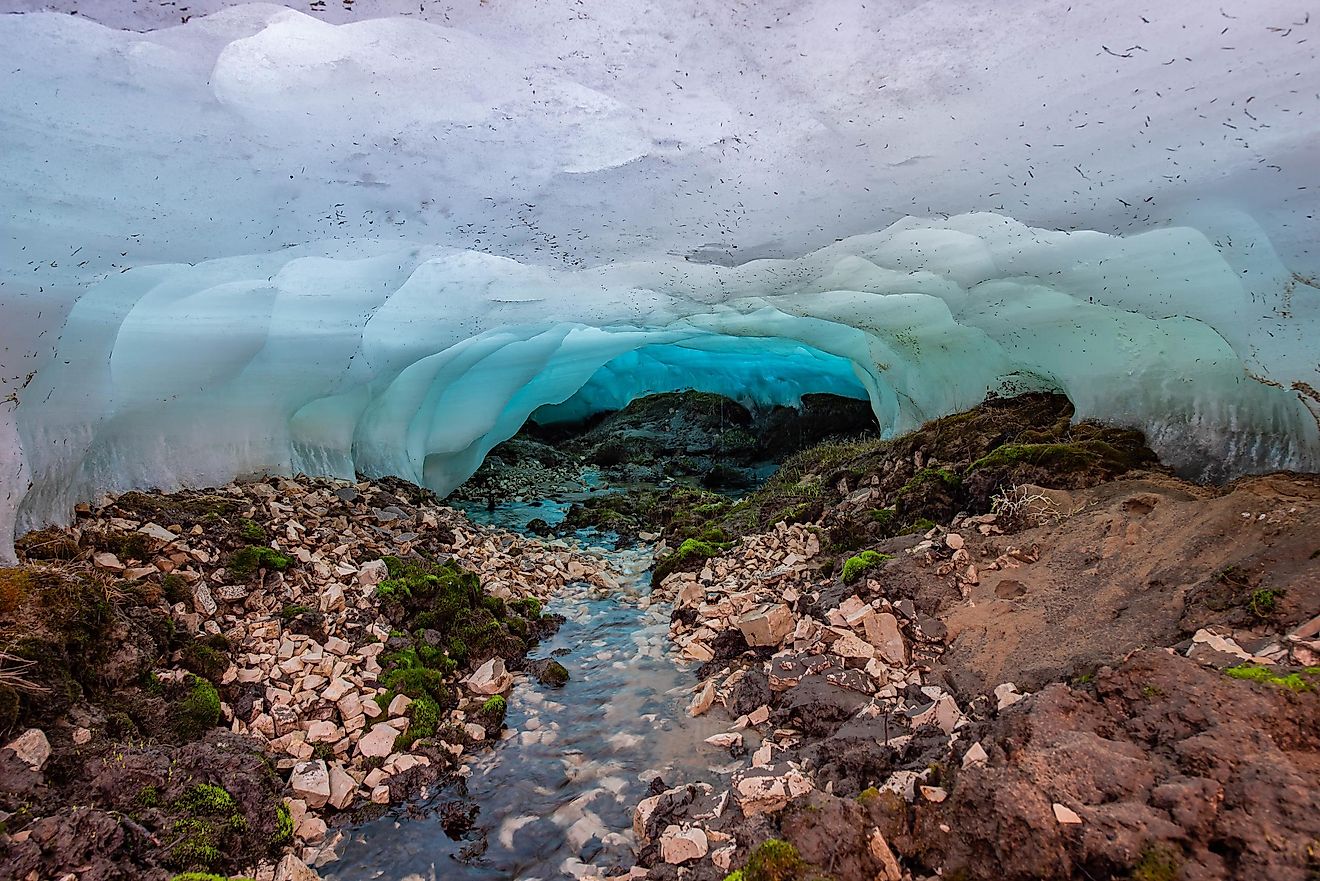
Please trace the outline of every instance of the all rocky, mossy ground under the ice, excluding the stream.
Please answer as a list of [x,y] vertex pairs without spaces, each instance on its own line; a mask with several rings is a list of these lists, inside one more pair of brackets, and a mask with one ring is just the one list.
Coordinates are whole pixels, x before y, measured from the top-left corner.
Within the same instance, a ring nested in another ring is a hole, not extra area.
[[[1192,485],[1053,395],[796,454],[730,456],[756,417],[721,400],[630,411],[529,429],[465,489],[640,481],[569,526],[659,539],[651,601],[729,761],[652,783],[627,877],[1320,877],[1320,477]],[[785,456],[743,498],[702,477]],[[562,682],[528,659],[541,601],[614,586],[397,481],[129,493],[20,548],[0,878],[314,878],[459,779],[516,676]]]

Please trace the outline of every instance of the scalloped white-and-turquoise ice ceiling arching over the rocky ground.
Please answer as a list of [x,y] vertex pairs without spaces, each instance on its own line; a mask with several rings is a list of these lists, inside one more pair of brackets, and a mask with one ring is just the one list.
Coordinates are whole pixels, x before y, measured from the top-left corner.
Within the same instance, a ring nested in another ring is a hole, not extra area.
[[656,383],[1320,466],[1309,3],[182,5],[0,7],[0,557]]

